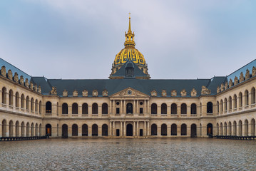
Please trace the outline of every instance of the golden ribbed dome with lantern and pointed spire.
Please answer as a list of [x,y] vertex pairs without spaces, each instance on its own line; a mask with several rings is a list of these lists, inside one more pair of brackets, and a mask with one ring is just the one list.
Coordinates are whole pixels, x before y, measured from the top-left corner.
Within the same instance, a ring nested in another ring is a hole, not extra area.
[[134,32],[130,29],[130,16],[129,16],[129,28],[128,32],[126,33],[126,41],[124,43],[125,48],[123,48],[117,55],[114,61],[114,66],[123,63],[126,63],[127,61],[133,61],[133,63],[138,63],[139,66],[146,66],[145,64],[145,58],[143,54],[138,51],[138,49],[135,48],[135,41],[134,41]]

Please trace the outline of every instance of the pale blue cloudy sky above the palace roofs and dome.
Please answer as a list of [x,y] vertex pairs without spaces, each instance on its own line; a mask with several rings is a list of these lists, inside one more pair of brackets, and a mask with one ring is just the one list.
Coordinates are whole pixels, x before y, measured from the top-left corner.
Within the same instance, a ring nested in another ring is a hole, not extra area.
[[247,0],[1,0],[0,57],[31,76],[108,79],[129,12],[152,79],[227,76],[256,57]]

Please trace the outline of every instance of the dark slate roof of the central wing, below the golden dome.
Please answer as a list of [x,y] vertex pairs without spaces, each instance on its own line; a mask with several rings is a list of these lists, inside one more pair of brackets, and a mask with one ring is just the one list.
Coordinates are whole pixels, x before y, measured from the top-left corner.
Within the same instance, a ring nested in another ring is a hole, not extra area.
[[88,90],[88,96],[92,96],[93,90],[98,90],[98,96],[102,96],[104,89],[108,90],[108,95],[113,95],[125,88],[134,88],[142,93],[150,95],[152,90],[158,92],[161,96],[162,90],[167,91],[167,96],[170,96],[171,90],[177,91],[177,96],[180,96],[180,91],[185,89],[187,97],[190,97],[190,92],[193,88],[200,95],[202,86],[210,88],[211,94],[216,94],[217,86],[224,81],[226,77],[214,77],[212,79],[190,79],[190,80],[142,80],[142,79],[103,79],[103,80],[66,80],[66,79],[46,79],[43,77],[33,77],[34,83],[41,86],[42,93],[48,95],[51,91],[51,86],[57,88],[57,93],[62,96],[63,90],[68,91],[68,96],[71,96],[73,90],[78,90],[78,96],[82,96],[84,89]]

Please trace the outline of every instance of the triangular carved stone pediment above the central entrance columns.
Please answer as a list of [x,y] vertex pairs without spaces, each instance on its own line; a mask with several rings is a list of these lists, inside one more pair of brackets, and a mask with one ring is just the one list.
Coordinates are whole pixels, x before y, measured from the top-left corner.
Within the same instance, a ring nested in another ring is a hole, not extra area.
[[138,98],[138,97],[145,97],[145,98],[148,98],[149,95],[146,95],[145,93],[141,93],[140,91],[138,90],[135,90],[133,88],[126,88],[126,89],[123,89],[117,93],[114,93],[113,95],[111,95],[111,98],[123,98],[123,97],[127,97],[127,98]]

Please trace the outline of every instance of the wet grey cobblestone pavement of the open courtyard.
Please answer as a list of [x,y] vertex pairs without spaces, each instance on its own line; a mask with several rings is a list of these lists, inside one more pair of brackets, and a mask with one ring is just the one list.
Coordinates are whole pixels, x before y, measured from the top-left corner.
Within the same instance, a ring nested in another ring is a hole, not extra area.
[[1,170],[256,170],[256,140],[50,139],[0,142]]

